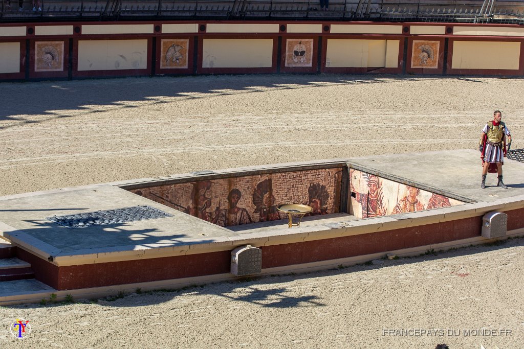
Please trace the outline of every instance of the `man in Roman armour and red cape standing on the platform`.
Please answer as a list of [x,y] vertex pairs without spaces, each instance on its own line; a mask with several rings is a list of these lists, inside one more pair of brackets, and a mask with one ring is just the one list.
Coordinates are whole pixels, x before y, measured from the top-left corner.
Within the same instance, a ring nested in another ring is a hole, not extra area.
[[502,113],[500,110],[495,110],[493,120],[488,121],[482,129],[478,150],[481,151],[481,188],[483,189],[486,187],[486,176],[488,172],[498,173],[497,186],[504,189],[508,188],[502,181],[502,165],[504,165],[504,156],[506,156],[507,151],[511,147],[511,134],[501,119]]

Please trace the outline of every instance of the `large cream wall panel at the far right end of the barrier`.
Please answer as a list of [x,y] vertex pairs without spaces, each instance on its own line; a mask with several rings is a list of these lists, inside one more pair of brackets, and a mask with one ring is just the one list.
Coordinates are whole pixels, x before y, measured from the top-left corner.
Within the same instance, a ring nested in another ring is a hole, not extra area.
[[453,69],[519,69],[520,42],[454,41]]

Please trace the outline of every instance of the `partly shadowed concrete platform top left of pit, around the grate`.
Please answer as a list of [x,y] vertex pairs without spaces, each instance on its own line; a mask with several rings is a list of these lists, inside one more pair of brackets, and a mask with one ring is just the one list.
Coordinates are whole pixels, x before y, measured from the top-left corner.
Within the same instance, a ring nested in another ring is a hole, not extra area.
[[[3,207],[0,210],[0,222],[8,222],[0,223],[1,234],[28,250],[44,255],[154,249],[235,235],[228,229],[111,185],[56,190],[0,202]],[[48,219],[52,216],[139,205],[158,208],[172,217],[76,229],[61,227]]]

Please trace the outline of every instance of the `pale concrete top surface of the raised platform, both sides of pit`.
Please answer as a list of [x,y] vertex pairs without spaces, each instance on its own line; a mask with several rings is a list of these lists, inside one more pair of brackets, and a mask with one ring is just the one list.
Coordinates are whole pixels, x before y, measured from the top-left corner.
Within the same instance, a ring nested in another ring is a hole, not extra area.
[[[358,170],[466,202],[489,202],[524,195],[524,163],[505,161],[504,178],[509,189],[495,186],[481,189],[480,160],[478,152],[473,150],[366,156],[348,159],[347,163]],[[496,175],[489,174],[487,183],[496,184]],[[14,195],[0,198],[0,202],[0,234],[41,256],[132,252],[220,242],[243,234],[302,231],[289,229],[285,219],[222,228],[114,185]],[[138,205],[158,208],[172,217],[77,229],[58,226],[48,219]],[[321,229],[329,229],[330,223],[355,219],[347,213],[336,213],[305,217],[301,225],[303,228],[323,226]]]

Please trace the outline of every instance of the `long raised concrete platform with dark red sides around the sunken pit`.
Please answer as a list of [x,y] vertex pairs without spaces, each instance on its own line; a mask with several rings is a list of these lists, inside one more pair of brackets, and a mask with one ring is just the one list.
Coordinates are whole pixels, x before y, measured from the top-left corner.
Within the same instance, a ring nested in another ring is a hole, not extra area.
[[[317,268],[353,263],[387,251],[420,253],[421,249],[482,243],[482,216],[494,210],[508,212],[508,236],[524,234],[524,164],[506,160],[504,178],[509,189],[481,189],[481,162],[478,152],[472,150],[252,166],[202,176],[176,175],[161,185],[191,185],[213,176],[222,180],[284,171],[300,174],[308,168],[327,168],[323,166],[336,167],[342,173],[336,177],[342,181],[336,194],[342,212],[304,217],[300,227],[288,228],[287,219],[219,227],[119,187],[129,186],[126,181],[1,197],[0,236],[17,246],[16,257],[29,263],[36,278],[50,289],[65,292],[102,287],[100,292],[105,292],[104,287],[113,285],[146,288],[147,283],[178,285],[180,280],[191,283],[195,278],[198,282],[232,278],[231,251],[246,244],[260,247],[263,273],[273,273],[303,270],[304,265]],[[351,168],[465,203],[357,219],[345,213],[351,199]],[[300,178],[297,175],[293,183],[304,186]],[[134,186],[158,185],[151,178],[132,182]],[[496,175],[490,174],[487,184],[495,183]],[[49,219],[134,206],[150,206],[169,217],[85,228],[66,228]],[[18,287],[13,285],[11,291]]]

